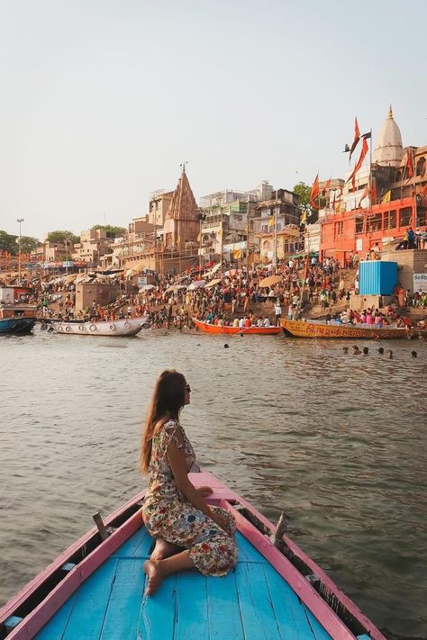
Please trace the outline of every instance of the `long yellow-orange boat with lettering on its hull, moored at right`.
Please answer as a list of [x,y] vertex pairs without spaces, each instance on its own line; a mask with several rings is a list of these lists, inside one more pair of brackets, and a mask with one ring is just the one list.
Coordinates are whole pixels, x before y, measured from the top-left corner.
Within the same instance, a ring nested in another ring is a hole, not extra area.
[[312,320],[280,320],[282,329],[295,338],[363,338],[363,339],[395,339],[411,338],[408,329],[376,329],[353,327],[343,324],[327,324]]

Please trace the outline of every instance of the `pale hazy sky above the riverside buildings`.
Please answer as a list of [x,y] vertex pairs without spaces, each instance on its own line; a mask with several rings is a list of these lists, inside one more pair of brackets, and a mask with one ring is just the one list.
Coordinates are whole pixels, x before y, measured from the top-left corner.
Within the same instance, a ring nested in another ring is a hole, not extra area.
[[343,176],[354,116],[427,144],[427,3],[0,0],[0,230],[127,226],[195,197]]

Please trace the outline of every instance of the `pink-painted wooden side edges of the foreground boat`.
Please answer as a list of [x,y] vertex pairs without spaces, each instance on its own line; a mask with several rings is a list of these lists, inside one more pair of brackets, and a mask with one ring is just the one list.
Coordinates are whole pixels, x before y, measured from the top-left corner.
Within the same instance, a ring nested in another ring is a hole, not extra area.
[[[223,482],[219,481],[212,473],[200,472],[190,473],[190,479],[197,486],[209,485],[213,488],[213,494],[210,496],[209,501],[213,504],[222,506],[224,509],[228,509],[232,512],[236,518],[237,528],[243,536],[245,536],[259,553],[264,555],[269,563],[272,564],[289,583],[292,589],[299,598],[304,602],[305,606],[309,608],[313,615],[317,617],[319,622],[324,628],[332,635],[334,640],[349,640],[354,638],[345,625],[345,623],[338,617],[332,608],[329,607],[327,602],[319,595],[319,593],[313,589],[313,586],[309,581],[304,578],[304,575],[295,568],[284,554],[282,554],[277,547],[268,538],[268,532],[274,533],[276,527],[268,521],[267,518],[262,516],[261,513],[254,509],[249,502],[242,499],[235,491],[229,489]],[[143,492],[138,496],[129,500],[123,507],[114,511],[114,513],[105,519],[105,525],[113,522],[116,518],[120,517],[127,509],[139,507],[139,503],[143,498]],[[266,534],[259,531],[248,518],[246,518],[239,508],[247,509],[250,512],[250,516],[258,519],[265,527]],[[49,592],[45,599],[43,599],[32,611],[23,617],[20,622],[11,631],[7,638],[10,640],[28,640],[40,631],[52,617],[56,611],[64,604],[69,596],[77,590],[79,585],[86,580],[86,578],[104,562],[114,551],[123,545],[123,543],[132,534],[141,527],[141,510],[138,508],[133,512],[131,517],[123,522],[123,525],[115,529],[114,533],[106,538],[106,540],[97,545],[95,549],[76,566],[71,569],[66,576],[59,581],[53,590]],[[17,608],[23,604],[23,602],[30,598],[32,593],[41,585],[43,581],[46,581],[48,577],[59,567],[67,562],[67,559],[71,557],[78,548],[85,545],[88,540],[96,535],[96,530],[91,529],[86,536],[81,537],[74,545],[71,545],[67,551],[60,554],[56,561],[50,564],[50,566],[31,581],[26,587],[23,588],[13,599],[5,605],[0,611],[0,624],[5,619],[14,614]],[[345,603],[346,607],[350,610],[351,614],[359,621],[359,623],[366,628],[371,638],[375,640],[385,640],[384,636],[377,630],[373,623],[368,620],[360,611],[356,605],[343,594],[334,583],[327,577],[327,575],[318,567],[304,552],[299,549],[295,543],[292,543],[287,536],[283,537],[285,544],[292,549],[292,551],[304,559],[304,562],[310,566],[313,573],[317,575],[327,585],[328,589]]]

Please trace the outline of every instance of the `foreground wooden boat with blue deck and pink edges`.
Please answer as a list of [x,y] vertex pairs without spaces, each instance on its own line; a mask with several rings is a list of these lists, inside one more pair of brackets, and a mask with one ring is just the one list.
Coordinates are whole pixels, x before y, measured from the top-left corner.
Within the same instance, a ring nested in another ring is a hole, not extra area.
[[144,560],[153,540],[143,525],[143,493],[60,554],[0,610],[0,638],[177,637],[236,640],[385,640],[313,560],[211,473],[208,502],[232,513],[239,549],[223,578],[179,572],[146,597]]

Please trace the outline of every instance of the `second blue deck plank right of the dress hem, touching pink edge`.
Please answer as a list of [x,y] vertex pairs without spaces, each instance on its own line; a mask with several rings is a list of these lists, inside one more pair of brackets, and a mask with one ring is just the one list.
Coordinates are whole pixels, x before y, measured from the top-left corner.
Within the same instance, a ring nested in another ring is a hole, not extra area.
[[[263,567],[268,582],[272,606],[277,617],[281,635],[286,640],[313,640],[313,629],[307,618],[304,604],[295,595],[286,581],[270,564]],[[315,619],[315,618],[314,618]],[[324,631],[323,639],[331,636]]]

